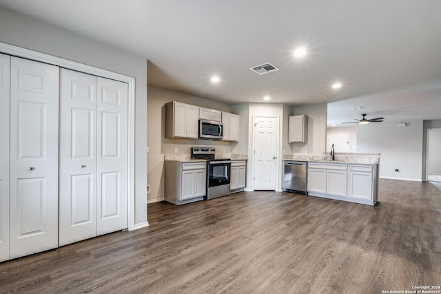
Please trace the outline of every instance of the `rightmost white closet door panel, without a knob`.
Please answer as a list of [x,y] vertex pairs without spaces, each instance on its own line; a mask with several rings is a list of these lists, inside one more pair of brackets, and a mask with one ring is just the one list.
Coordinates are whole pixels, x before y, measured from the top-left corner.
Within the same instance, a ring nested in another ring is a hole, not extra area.
[[127,228],[127,90],[127,83],[98,78],[98,235]]

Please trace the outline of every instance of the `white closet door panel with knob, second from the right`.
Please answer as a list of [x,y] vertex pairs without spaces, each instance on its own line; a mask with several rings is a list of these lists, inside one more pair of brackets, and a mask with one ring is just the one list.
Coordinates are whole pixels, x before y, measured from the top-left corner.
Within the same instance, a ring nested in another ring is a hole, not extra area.
[[96,236],[96,76],[61,69],[59,245]]

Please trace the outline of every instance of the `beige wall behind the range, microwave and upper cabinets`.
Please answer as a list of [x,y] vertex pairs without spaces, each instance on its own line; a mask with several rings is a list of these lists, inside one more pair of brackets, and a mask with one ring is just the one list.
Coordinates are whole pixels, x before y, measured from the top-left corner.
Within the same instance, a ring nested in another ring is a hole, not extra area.
[[223,112],[233,112],[232,107],[224,103],[159,87],[148,87],[147,134],[149,153],[147,154],[147,160],[149,164],[147,175],[148,185],[150,185],[150,193],[147,195],[148,202],[157,202],[164,199],[164,154],[174,154],[175,148],[178,148],[178,154],[189,154],[192,146],[215,146],[216,153],[232,153],[232,147],[237,145],[237,143],[216,140],[165,138],[164,105],[170,101],[217,109]]

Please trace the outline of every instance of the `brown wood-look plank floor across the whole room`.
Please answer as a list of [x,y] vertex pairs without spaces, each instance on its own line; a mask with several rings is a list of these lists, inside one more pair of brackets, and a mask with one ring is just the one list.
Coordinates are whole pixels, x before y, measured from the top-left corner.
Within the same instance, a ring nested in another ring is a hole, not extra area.
[[0,293],[382,293],[441,285],[441,190],[380,180],[375,207],[267,191],[0,264]]

